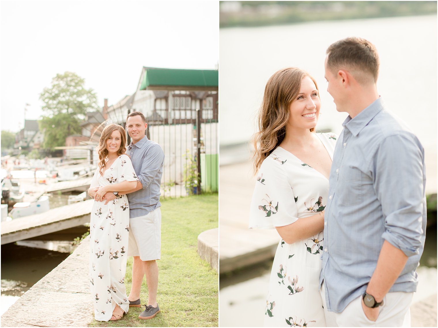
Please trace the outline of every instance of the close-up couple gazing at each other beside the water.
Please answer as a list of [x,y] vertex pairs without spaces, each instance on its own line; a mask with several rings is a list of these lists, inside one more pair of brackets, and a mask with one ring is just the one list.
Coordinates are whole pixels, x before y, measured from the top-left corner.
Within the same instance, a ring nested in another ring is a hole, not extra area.
[[426,233],[424,149],[386,108],[378,72],[365,39],[327,49],[327,91],[348,113],[339,136],[315,132],[321,101],[306,71],[282,69],[266,84],[250,227],[282,240],[265,326],[410,327]]

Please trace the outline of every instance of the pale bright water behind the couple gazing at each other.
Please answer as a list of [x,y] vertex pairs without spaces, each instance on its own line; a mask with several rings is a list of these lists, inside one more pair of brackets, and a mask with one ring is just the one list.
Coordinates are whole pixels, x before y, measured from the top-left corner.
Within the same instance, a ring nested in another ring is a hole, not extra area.
[[[378,90],[422,142],[427,190],[436,193],[436,31],[436,15],[219,29],[221,164],[227,157],[224,145],[251,138],[266,81],[283,67],[300,67],[313,75],[322,102],[317,128],[339,134],[347,114],[336,111],[326,91],[325,50],[336,40],[357,35],[377,47],[381,63]],[[249,155],[248,150],[244,145],[240,152]],[[233,156],[229,157],[232,161]]]

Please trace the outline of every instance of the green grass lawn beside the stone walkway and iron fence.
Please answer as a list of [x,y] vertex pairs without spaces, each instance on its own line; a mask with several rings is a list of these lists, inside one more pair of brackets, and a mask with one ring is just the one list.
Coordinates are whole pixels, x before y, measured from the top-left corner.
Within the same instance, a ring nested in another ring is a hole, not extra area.
[[[160,313],[138,319],[145,307],[131,307],[119,321],[93,320],[90,327],[217,327],[218,274],[197,252],[198,235],[218,227],[218,194],[161,201],[161,260],[157,302]],[[132,257],[128,258],[125,285],[131,290]],[[141,304],[148,299],[146,279]]]

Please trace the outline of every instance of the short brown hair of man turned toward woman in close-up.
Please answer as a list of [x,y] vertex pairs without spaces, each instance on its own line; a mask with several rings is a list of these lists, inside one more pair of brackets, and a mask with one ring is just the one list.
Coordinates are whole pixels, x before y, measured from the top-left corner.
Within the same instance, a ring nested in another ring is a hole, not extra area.
[[363,73],[371,74],[374,83],[379,75],[379,56],[376,47],[369,41],[350,37],[332,43],[326,51],[327,68],[332,71],[347,69],[359,81],[366,81]]

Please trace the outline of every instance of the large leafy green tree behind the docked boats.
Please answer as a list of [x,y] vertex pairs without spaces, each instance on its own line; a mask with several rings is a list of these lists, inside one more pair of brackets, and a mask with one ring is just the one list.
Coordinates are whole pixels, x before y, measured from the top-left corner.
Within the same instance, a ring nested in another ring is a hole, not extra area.
[[85,80],[72,72],[57,74],[52,85],[44,88],[39,99],[45,115],[39,123],[44,131],[44,147],[64,146],[65,138],[81,134],[81,121],[88,112],[99,109],[93,89],[84,87]]

